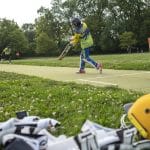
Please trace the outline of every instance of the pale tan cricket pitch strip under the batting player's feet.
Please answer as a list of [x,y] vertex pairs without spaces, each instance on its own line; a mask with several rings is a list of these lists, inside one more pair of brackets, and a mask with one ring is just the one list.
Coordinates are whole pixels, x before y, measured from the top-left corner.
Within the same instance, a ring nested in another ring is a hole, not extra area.
[[103,74],[99,74],[97,70],[87,68],[86,74],[76,74],[78,68],[13,64],[0,64],[0,71],[33,75],[57,81],[88,83],[95,86],[118,86],[150,93],[150,71],[104,69]]

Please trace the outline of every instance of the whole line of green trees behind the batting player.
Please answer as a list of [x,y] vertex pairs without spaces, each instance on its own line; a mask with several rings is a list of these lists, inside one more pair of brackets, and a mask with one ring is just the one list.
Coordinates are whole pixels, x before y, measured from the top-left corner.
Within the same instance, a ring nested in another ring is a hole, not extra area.
[[87,23],[94,38],[93,53],[120,53],[133,45],[148,51],[148,0],[52,0],[37,13],[34,24],[21,28],[14,21],[0,20],[0,51],[11,44],[24,54],[57,55],[73,34],[73,17]]

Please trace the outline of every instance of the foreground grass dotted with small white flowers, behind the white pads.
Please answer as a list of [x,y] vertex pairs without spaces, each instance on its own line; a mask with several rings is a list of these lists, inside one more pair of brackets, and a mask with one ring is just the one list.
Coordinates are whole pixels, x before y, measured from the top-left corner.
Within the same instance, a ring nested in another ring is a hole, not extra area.
[[86,119],[118,128],[122,106],[143,93],[56,82],[0,72],[0,121],[26,110],[61,122],[55,134],[75,135]]

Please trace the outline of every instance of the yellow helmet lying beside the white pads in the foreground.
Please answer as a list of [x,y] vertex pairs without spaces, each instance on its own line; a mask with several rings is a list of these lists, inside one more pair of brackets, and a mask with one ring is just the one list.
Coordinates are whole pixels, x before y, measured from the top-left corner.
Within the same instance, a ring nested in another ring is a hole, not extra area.
[[144,138],[150,139],[150,94],[133,103],[128,111],[128,118]]

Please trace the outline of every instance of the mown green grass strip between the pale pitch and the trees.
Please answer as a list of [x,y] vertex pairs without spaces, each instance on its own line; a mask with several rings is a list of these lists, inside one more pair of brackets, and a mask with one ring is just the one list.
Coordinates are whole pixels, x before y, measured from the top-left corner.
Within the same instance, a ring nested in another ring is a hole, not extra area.
[[[150,53],[96,55],[94,60],[102,62],[106,69],[147,70],[150,71]],[[13,61],[14,64],[78,67],[79,57],[65,57],[62,61],[55,58],[28,58]],[[91,67],[87,65],[87,67]]]

